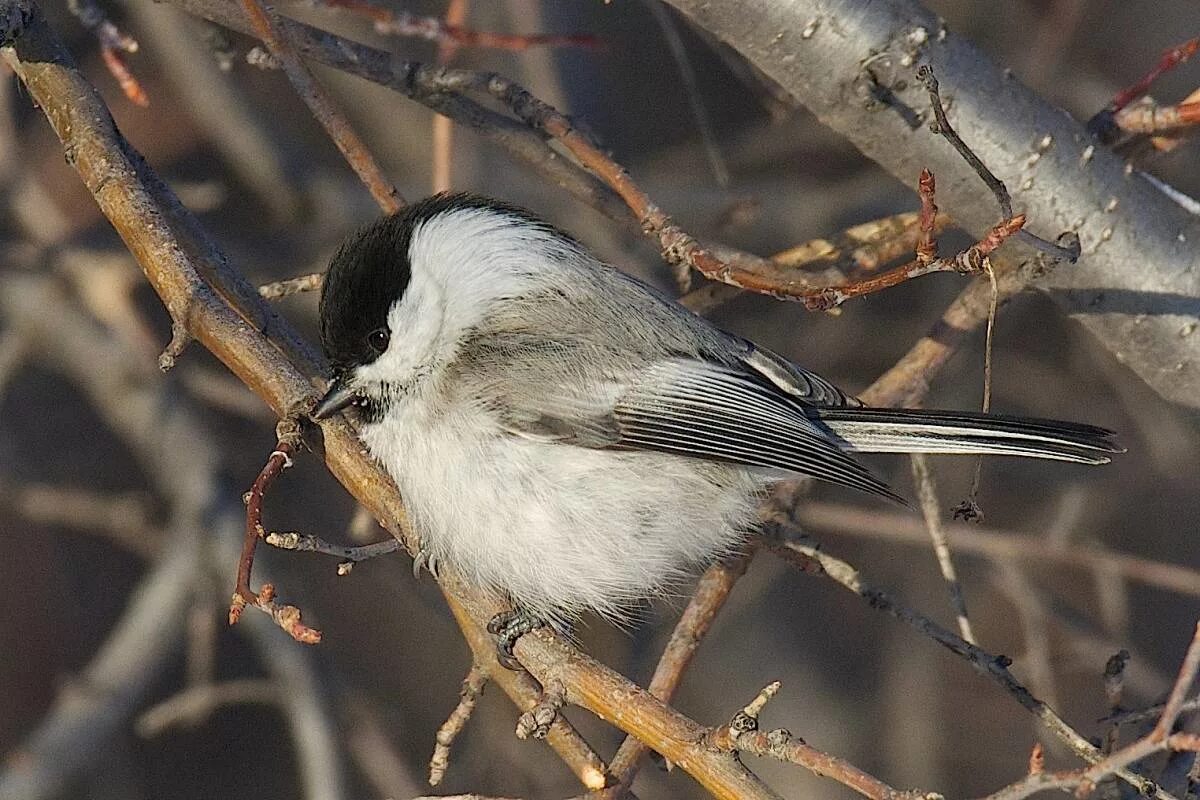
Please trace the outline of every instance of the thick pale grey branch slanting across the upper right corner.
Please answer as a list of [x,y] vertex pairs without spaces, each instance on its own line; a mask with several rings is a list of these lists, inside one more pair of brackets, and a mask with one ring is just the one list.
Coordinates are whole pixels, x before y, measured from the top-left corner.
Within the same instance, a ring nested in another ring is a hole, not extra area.
[[1200,217],[1099,145],[912,0],[667,0],[898,179],[937,176],[943,210],[982,235],[991,193],[929,131],[931,64],[950,122],[1013,193],[1028,228],[1084,254],[1034,279],[1164,397],[1200,405]]

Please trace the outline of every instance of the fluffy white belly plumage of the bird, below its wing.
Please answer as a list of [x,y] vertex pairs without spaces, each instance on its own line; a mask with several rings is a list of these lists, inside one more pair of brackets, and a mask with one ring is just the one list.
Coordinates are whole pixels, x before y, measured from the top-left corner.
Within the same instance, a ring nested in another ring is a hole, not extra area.
[[625,618],[736,548],[755,521],[763,479],[738,467],[420,416],[367,425],[362,438],[396,479],[422,548],[558,625],[584,610]]

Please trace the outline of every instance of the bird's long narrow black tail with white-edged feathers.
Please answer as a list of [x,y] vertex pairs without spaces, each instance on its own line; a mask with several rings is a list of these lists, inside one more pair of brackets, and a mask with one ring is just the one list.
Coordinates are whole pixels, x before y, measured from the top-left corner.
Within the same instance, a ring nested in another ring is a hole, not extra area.
[[1124,452],[1105,428],[970,411],[886,408],[810,408],[852,452],[1002,455],[1105,464]]

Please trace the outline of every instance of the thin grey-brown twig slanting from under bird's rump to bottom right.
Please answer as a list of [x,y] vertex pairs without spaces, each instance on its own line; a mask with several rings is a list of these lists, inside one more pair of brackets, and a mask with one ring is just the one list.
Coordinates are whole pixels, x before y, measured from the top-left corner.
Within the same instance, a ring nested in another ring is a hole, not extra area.
[[[996,681],[1018,703],[1028,710],[1046,730],[1057,736],[1081,759],[1093,765],[1104,760],[1103,753],[1087,741],[1087,739],[1067,724],[1054,709],[1036,698],[1030,690],[1013,676],[1013,673],[1008,669],[1012,660],[1007,656],[992,655],[983,648],[955,636],[952,631],[942,627],[924,614],[899,603],[887,593],[868,584],[853,566],[829,555],[818,547],[796,540],[768,541],[768,546],[772,552],[788,563],[794,563],[796,558],[799,557],[802,566],[805,569],[810,561],[816,561],[821,565],[822,575],[865,600],[871,608],[886,612],[895,619],[906,622],[950,652],[965,658],[980,674]],[[1168,793],[1159,789],[1153,781],[1129,771],[1123,764],[1112,770],[1111,774],[1117,775],[1147,796],[1156,796],[1159,800],[1170,800],[1171,798]]]

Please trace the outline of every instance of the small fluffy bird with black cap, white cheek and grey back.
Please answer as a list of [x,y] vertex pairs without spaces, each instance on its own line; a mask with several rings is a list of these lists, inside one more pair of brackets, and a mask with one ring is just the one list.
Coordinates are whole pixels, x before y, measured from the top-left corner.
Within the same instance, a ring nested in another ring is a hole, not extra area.
[[325,276],[320,337],[335,378],[313,416],[360,407],[419,560],[511,604],[492,626],[506,656],[542,624],[626,620],[736,551],[773,482],[900,499],[850,453],[1100,464],[1120,452],[1088,425],[865,408],[473,194],[350,236]]

